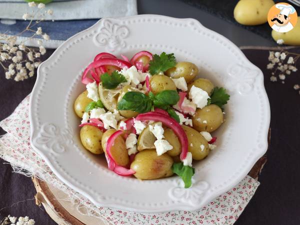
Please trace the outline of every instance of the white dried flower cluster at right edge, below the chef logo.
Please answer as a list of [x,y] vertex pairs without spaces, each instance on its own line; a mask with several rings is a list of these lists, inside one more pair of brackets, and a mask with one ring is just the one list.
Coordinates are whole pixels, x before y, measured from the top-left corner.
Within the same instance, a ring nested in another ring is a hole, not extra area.
[[273,82],[281,80],[281,83],[284,83],[288,75],[298,70],[296,68],[298,58],[300,58],[299,53],[282,50],[269,51],[269,63],[266,65],[266,68],[271,70],[270,80]]

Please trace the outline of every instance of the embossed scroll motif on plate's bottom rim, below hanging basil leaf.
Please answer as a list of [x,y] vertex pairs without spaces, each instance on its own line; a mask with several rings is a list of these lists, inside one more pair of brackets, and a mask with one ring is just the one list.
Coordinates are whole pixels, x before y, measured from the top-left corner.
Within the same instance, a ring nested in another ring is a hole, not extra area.
[[209,184],[206,181],[192,180],[192,186],[184,188],[184,183],[181,178],[175,180],[175,186],[168,191],[168,195],[173,200],[179,200],[192,206],[199,205]]

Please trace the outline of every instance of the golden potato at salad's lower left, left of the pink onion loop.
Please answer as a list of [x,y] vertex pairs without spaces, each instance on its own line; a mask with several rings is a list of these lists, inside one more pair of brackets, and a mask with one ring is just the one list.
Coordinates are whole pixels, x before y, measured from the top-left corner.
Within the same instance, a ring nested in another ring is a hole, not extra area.
[[101,146],[103,132],[92,125],[84,125],[80,129],[80,139],[82,145],[94,154],[102,154]]

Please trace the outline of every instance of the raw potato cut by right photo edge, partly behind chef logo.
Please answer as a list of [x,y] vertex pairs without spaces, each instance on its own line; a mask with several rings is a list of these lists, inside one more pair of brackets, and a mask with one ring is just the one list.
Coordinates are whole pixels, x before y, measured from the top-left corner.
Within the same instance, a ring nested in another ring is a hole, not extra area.
[[284,44],[300,45],[300,16],[298,16],[298,22],[292,30],[285,33],[272,30],[272,37],[275,41],[283,39]]

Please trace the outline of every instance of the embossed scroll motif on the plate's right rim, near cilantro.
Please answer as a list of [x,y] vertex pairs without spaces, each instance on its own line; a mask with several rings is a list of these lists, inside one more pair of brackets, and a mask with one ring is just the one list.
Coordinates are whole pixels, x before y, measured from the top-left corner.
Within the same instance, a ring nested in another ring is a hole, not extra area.
[[228,89],[236,89],[240,94],[247,94],[253,89],[253,83],[259,71],[245,67],[241,64],[234,64],[228,67],[227,72],[230,77],[224,82]]

